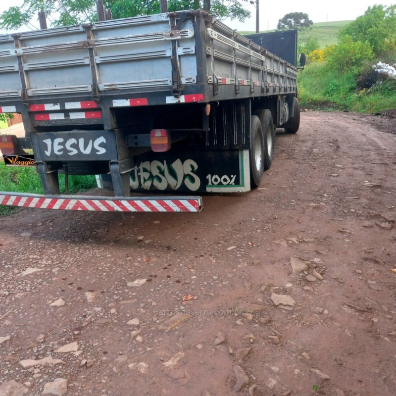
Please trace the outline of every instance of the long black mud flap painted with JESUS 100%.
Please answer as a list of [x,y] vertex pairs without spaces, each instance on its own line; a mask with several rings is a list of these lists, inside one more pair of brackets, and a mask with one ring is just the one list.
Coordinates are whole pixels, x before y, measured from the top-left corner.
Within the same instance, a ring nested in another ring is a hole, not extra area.
[[[250,191],[248,150],[185,151],[156,155],[151,153],[140,156],[136,163],[129,175],[132,191]],[[111,179],[110,174],[97,175],[98,187],[112,189]]]

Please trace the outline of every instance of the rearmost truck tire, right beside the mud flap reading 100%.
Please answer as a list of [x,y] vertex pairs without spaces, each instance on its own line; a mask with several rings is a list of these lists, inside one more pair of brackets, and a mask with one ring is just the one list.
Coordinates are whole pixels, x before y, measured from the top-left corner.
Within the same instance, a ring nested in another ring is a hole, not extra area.
[[250,122],[250,184],[258,187],[264,172],[264,137],[261,122],[256,115]]

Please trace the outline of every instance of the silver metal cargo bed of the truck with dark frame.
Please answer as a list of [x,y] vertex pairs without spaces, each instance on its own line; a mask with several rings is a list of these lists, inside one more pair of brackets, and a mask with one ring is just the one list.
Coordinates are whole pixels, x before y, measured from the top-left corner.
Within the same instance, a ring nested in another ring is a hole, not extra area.
[[0,36],[0,111],[21,113],[27,132],[111,129],[120,107],[294,93],[296,78],[202,11]]

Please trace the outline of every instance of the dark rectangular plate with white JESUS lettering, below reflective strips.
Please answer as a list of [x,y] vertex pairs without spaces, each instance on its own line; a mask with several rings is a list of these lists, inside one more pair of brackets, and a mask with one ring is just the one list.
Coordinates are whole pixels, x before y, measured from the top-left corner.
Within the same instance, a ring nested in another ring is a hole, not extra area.
[[117,142],[112,131],[36,132],[30,137],[37,161],[117,159]]

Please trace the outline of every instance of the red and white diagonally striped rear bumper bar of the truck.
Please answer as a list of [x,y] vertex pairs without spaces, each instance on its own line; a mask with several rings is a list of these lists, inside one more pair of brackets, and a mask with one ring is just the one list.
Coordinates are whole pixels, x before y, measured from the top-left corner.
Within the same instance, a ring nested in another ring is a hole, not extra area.
[[173,198],[113,198],[62,196],[46,198],[38,194],[0,193],[0,205],[102,212],[199,212],[201,197]]

